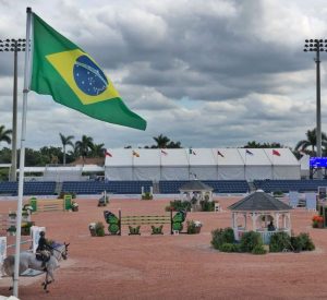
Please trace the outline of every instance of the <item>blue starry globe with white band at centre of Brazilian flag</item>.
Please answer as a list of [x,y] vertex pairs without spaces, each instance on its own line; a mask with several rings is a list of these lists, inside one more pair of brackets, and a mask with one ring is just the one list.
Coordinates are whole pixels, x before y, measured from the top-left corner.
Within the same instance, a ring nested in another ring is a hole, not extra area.
[[76,85],[86,95],[100,95],[108,86],[108,80],[102,70],[87,56],[81,56],[76,59],[73,74]]

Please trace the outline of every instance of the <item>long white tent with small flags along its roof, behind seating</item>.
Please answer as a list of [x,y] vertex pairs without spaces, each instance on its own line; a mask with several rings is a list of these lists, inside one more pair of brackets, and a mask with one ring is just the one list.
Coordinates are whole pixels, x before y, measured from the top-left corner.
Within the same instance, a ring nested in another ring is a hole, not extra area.
[[300,163],[289,148],[108,148],[108,180],[300,179]]

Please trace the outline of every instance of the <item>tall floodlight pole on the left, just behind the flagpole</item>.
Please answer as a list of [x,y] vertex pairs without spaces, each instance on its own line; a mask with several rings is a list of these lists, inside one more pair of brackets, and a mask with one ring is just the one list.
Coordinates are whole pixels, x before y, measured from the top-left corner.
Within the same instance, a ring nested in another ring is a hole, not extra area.
[[14,82],[12,101],[12,148],[10,181],[16,181],[17,167],[17,52],[25,51],[26,39],[0,39],[0,51],[14,52]]

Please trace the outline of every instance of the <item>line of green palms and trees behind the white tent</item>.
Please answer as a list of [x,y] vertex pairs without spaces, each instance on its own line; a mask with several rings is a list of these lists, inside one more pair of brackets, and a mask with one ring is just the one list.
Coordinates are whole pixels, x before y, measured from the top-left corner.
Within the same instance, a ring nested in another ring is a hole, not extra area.
[[[316,155],[316,130],[307,130],[306,139],[296,143],[294,149],[291,148],[293,154],[300,158],[301,155],[308,154]],[[11,144],[12,130],[5,129],[0,125],[0,146],[2,144]],[[92,136],[82,135],[81,140],[74,142],[74,135],[63,135],[59,133],[59,139],[62,147],[44,146],[39,149],[26,148],[25,149],[25,166],[45,166],[49,164],[71,164],[78,158],[89,157],[105,157],[105,144],[96,144]],[[168,136],[160,134],[153,137],[155,144],[144,146],[144,148],[183,148],[181,142],[171,141]],[[322,133],[323,154],[327,155],[327,135]],[[280,143],[257,143],[255,141],[247,142],[244,148],[281,148],[284,147]],[[132,148],[131,145],[125,148]],[[20,151],[19,151],[20,152]],[[20,154],[17,152],[17,155]],[[11,163],[11,148],[3,147],[0,149],[0,164]]]

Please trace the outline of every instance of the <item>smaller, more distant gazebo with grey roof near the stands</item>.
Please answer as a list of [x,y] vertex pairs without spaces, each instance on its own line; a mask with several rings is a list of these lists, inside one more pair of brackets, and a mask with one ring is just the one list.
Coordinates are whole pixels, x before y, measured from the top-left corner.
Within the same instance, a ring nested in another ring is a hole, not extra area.
[[211,187],[197,179],[189,181],[180,188],[181,200],[183,200],[186,194],[186,200],[195,205],[199,205],[199,202],[203,200],[211,202],[213,191],[214,189]]

